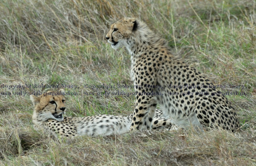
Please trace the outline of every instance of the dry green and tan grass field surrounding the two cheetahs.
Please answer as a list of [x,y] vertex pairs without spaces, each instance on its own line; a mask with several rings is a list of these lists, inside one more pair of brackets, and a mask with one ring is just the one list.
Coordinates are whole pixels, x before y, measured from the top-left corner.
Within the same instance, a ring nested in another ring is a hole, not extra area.
[[[64,87],[80,94],[67,96],[67,116],[133,112],[134,95],[112,95],[133,89],[84,87],[133,84],[127,51],[115,51],[105,39],[122,17],[144,20],[186,63],[227,85],[222,92],[242,93],[227,96],[241,130],[70,140],[33,129],[27,93],[45,88],[5,85],[78,85]],[[0,0],[2,84],[0,165],[256,165],[256,1]],[[97,95],[103,92],[110,95]]]

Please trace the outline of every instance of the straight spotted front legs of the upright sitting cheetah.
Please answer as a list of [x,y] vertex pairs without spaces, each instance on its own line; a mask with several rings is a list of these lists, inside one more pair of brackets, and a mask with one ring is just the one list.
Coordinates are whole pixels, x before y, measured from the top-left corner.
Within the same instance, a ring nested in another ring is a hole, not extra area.
[[141,58],[136,59],[132,67],[134,84],[136,85],[134,87],[136,90],[136,102],[130,131],[133,129],[150,130],[157,107],[157,97],[154,95],[157,68],[154,67],[154,63],[141,63],[143,57]]

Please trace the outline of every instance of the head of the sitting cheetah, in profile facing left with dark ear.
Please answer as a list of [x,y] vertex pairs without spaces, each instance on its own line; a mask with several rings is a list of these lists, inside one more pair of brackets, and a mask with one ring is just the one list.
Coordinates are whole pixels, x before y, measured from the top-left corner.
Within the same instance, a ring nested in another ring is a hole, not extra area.
[[134,18],[122,18],[110,26],[106,39],[113,49],[126,46],[127,39],[137,29],[137,21]]

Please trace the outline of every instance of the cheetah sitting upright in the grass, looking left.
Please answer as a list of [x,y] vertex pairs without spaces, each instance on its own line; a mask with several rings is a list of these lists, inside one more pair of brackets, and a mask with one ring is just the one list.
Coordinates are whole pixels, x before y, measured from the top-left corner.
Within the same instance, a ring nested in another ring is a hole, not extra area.
[[136,90],[133,129],[151,129],[157,104],[179,127],[239,127],[231,103],[203,74],[171,54],[167,41],[135,18],[111,25],[106,39],[112,48],[126,47]]

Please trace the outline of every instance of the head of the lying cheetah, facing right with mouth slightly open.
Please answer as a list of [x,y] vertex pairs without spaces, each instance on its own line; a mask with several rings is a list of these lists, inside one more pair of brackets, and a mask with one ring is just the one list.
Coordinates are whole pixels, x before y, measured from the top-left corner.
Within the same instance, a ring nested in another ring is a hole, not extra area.
[[48,91],[39,96],[30,95],[30,100],[35,107],[32,116],[33,122],[40,123],[49,119],[62,121],[66,110],[66,98],[63,93],[65,93],[65,91],[61,89],[57,92]]

